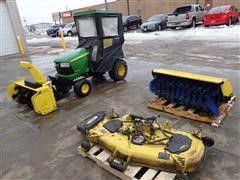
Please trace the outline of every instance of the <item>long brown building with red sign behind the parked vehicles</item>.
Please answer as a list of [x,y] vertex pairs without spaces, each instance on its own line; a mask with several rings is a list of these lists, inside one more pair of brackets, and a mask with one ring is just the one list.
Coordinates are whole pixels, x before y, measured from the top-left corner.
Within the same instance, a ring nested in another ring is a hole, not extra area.
[[[109,10],[120,12],[123,15],[140,15],[143,21],[154,14],[172,13],[176,7],[199,3],[210,9],[219,5],[235,5],[240,8],[240,0],[117,0],[107,3]],[[73,14],[87,9],[106,9],[105,4],[62,12],[63,23],[73,22]],[[68,16],[65,16],[67,14]]]

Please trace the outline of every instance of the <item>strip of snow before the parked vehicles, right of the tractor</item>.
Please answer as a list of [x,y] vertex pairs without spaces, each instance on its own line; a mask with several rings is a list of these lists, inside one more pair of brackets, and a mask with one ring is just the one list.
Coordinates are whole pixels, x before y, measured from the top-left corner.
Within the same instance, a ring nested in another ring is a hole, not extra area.
[[126,41],[143,40],[211,40],[211,41],[239,41],[240,25],[197,27],[192,29],[164,30],[151,33],[126,33]]

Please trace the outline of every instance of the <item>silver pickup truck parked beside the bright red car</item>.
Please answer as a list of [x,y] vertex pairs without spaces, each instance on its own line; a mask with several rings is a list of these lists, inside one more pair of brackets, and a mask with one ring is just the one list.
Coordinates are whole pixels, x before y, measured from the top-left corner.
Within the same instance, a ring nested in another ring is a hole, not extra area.
[[173,14],[168,15],[167,26],[176,27],[196,27],[197,23],[203,21],[206,10],[199,4],[178,7]]

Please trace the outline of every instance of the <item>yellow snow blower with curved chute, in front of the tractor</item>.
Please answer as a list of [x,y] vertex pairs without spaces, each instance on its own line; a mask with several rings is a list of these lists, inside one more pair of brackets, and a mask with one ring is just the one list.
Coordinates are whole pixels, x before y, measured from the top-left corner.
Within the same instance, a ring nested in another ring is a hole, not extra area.
[[57,109],[53,87],[41,71],[33,64],[20,61],[20,66],[26,68],[35,82],[18,79],[7,86],[8,94],[20,104],[27,104],[40,115],[48,114]]

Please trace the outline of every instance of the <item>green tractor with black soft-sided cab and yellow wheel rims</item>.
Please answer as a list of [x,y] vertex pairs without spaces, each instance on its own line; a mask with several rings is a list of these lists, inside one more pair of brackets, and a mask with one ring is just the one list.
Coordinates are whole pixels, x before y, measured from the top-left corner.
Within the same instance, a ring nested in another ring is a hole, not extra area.
[[127,64],[123,60],[124,43],[122,15],[105,10],[89,10],[74,14],[79,45],[76,49],[58,56],[57,74],[49,76],[59,96],[72,86],[79,97],[91,92],[89,77],[108,72],[114,81],[124,80]]

